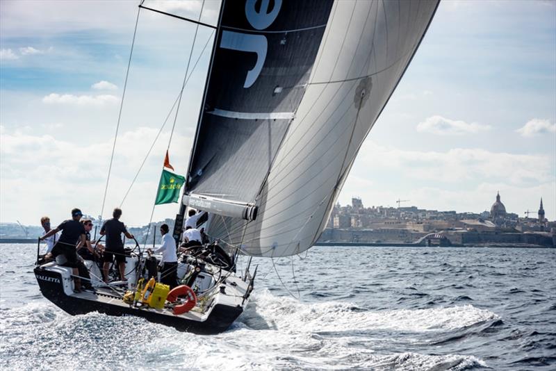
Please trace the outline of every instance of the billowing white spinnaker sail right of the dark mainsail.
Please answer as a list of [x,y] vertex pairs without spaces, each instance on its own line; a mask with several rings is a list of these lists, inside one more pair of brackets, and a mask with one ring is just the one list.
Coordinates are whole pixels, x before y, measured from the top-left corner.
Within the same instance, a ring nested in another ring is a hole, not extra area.
[[253,256],[290,256],[313,245],[437,5],[334,3],[310,83],[256,200],[259,216],[246,222],[215,215],[213,235]]

